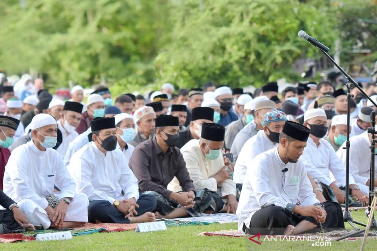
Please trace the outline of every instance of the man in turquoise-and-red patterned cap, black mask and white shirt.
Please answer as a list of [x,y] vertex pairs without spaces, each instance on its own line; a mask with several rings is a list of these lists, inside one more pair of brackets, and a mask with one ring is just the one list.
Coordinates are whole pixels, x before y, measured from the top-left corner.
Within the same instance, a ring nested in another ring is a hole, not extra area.
[[273,109],[264,114],[263,129],[249,138],[242,147],[234,166],[233,180],[237,184],[244,181],[246,167],[262,152],[274,148],[279,143],[279,134],[287,121],[285,113]]

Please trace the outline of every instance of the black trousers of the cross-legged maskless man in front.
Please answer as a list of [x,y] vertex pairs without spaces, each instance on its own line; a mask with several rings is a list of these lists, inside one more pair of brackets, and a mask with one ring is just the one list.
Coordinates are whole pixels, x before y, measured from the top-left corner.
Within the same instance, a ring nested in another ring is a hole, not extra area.
[[[323,204],[325,205],[327,217],[322,227],[326,231],[344,228],[340,205],[332,201],[327,201]],[[244,225],[244,231],[248,234],[282,235],[288,225],[296,226],[301,221],[309,221],[317,225],[317,228],[310,232],[320,231],[320,224],[313,217],[306,217],[297,213],[291,214],[285,208],[272,204],[256,211],[251,217],[249,228]]]

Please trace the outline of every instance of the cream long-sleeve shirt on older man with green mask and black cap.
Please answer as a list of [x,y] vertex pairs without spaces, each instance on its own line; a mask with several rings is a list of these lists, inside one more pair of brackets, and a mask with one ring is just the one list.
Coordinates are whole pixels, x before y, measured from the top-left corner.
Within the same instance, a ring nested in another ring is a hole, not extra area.
[[[212,192],[217,192],[218,187],[221,187],[221,196],[236,196],[236,183],[234,183],[234,181],[227,179],[218,185],[216,179],[213,178],[213,175],[218,173],[224,166],[224,158],[221,154],[215,160],[208,160],[202,154],[199,140],[195,139],[187,142],[186,145],[181,148],[181,153],[196,190],[207,188]],[[182,190],[177,178],[174,178],[169,183],[168,189],[173,192]]]

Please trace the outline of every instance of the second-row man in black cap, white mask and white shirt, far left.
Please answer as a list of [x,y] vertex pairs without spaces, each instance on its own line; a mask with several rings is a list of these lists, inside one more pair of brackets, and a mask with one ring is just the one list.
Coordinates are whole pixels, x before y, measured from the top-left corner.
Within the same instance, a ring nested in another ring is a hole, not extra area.
[[81,112],[83,111],[83,105],[78,102],[67,101],[64,104],[63,114],[57,121],[58,128],[63,135],[63,141],[58,147],[57,151],[61,158],[64,158],[71,143],[77,136],[78,132],[75,131],[81,121]]

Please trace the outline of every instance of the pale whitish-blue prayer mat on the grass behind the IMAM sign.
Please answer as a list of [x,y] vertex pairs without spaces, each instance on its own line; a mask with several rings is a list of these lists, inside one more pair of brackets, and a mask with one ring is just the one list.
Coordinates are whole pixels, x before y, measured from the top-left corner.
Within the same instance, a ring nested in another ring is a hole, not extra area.
[[236,214],[230,213],[213,213],[213,214],[202,214],[201,217],[185,217],[185,218],[175,218],[175,219],[160,219],[159,221],[184,221],[184,222],[208,222],[208,223],[235,223],[238,222]]

